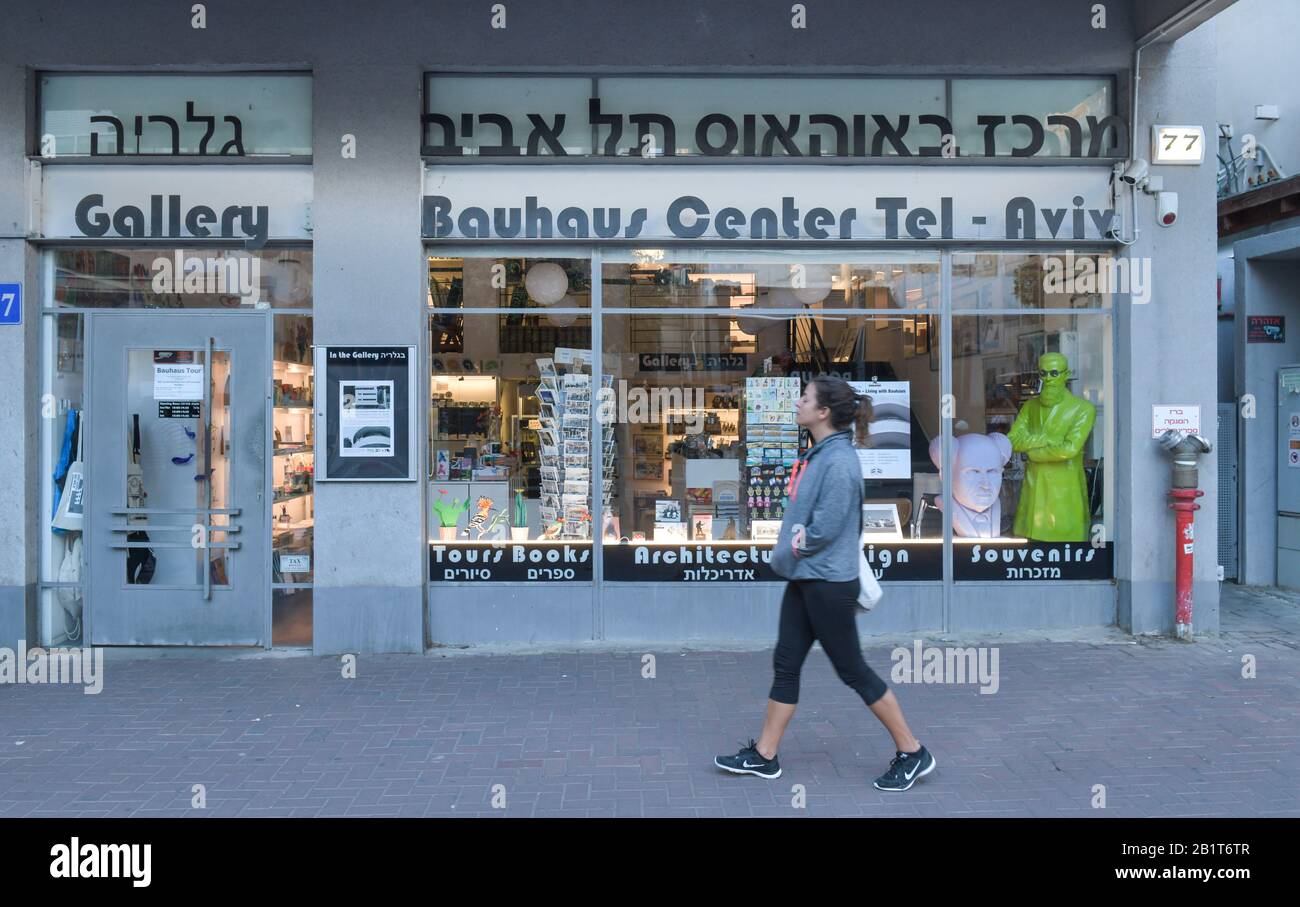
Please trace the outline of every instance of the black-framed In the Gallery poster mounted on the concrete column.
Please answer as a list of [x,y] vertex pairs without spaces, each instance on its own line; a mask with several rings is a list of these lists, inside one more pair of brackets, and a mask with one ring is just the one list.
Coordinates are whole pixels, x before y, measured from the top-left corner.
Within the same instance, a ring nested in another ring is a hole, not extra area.
[[316,481],[413,482],[415,347],[316,347]]

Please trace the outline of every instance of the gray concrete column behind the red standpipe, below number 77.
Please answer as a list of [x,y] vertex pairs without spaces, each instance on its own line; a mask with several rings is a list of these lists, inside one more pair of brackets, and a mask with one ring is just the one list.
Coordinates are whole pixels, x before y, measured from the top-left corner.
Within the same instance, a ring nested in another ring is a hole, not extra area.
[[[1213,135],[1214,68],[1213,22],[1144,51],[1135,135],[1149,135],[1153,123],[1201,123]],[[1138,147],[1145,157],[1144,143]],[[1216,369],[1197,366],[1213,361],[1217,343],[1214,165],[1153,166],[1152,174],[1157,173],[1166,190],[1178,192],[1178,222],[1158,226],[1154,199],[1139,195],[1140,234],[1128,255],[1152,261],[1152,298],[1145,305],[1119,305],[1115,356],[1119,625],[1132,633],[1169,633],[1174,626],[1174,520],[1165,494],[1171,466],[1149,439],[1150,408],[1200,404],[1204,434],[1212,443],[1217,434]],[[1196,515],[1193,576],[1197,632],[1218,630],[1216,469],[1217,454],[1201,459],[1205,496]]]

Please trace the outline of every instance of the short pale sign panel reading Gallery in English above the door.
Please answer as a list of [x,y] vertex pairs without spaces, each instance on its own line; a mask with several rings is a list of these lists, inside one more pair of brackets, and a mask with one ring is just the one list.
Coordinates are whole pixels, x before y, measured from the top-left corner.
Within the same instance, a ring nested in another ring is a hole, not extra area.
[[311,239],[309,165],[49,166],[46,239]]

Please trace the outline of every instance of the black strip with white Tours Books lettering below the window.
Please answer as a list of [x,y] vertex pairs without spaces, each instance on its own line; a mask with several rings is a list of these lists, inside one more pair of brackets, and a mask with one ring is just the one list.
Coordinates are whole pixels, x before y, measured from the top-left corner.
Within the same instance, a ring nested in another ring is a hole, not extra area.
[[432,542],[430,582],[590,582],[590,542]]

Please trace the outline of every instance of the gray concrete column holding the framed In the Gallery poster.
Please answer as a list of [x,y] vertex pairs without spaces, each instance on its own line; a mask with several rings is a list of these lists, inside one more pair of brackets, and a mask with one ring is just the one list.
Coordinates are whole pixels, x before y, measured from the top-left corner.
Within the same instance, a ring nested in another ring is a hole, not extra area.
[[[419,65],[328,64],[315,71],[315,339],[415,344],[424,361]],[[356,139],[356,157],[341,153]],[[424,438],[425,369],[412,387]],[[417,443],[424,474],[424,444]],[[341,482],[316,489],[317,654],[424,648],[424,487]]]

